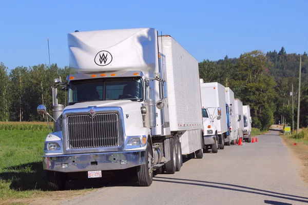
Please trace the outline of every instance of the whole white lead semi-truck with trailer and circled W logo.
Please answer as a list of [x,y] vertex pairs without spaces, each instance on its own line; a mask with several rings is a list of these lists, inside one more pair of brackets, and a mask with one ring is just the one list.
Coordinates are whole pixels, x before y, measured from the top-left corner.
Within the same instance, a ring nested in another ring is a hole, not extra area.
[[[153,28],[75,31],[68,48],[70,74],[54,80],[54,131],[43,156],[52,189],[128,168],[150,186],[154,171],[180,171],[182,154],[203,157],[198,61],[174,38]],[[37,111],[51,117],[44,105]]]

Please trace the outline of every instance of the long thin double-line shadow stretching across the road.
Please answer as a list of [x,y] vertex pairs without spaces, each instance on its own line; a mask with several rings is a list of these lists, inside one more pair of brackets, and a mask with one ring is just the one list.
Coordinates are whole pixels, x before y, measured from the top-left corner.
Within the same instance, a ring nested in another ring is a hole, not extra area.
[[[165,180],[165,179],[169,179],[169,180]],[[255,189],[251,187],[232,185],[229,183],[200,181],[200,180],[192,180],[192,179],[168,178],[168,177],[155,177],[153,180],[160,181],[160,182],[178,183],[178,184],[184,184],[184,185],[195,185],[195,186],[201,186],[201,187],[209,187],[209,188],[225,189],[225,190],[230,190],[230,191],[238,191],[238,192],[251,193],[251,194],[259,194],[259,195],[264,195],[264,196],[270,196],[270,197],[276,197],[276,198],[281,198],[281,199],[308,203],[308,200],[304,200],[304,199],[308,199],[307,197],[295,196],[295,195],[290,195],[290,194],[282,194],[278,192]],[[187,182],[184,182],[184,181],[187,181]],[[217,185],[228,186],[228,187],[222,187],[222,186],[217,186]],[[241,189],[237,189],[237,188],[241,188]],[[244,189],[247,189],[247,190],[244,190]],[[265,192],[265,193],[262,193],[262,192]],[[276,194],[276,195],[273,195],[273,194]]]

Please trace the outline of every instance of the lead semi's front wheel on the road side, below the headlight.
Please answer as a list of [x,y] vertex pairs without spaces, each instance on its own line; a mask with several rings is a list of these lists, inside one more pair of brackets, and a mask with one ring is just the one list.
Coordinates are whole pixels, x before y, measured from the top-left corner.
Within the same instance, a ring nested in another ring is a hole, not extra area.
[[152,171],[152,152],[151,146],[147,144],[145,150],[145,159],[146,162],[144,165],[137,167],[137,176],[139,186],[149,187],[152,184],[153,180],[153,171]]

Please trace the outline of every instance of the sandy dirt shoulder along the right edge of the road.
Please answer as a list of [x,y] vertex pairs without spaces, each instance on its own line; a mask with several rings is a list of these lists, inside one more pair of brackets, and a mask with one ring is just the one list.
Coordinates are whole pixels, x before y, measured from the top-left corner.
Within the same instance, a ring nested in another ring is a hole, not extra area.
[[[308,185],[308,145],[288,138],[287,135],[282,134],[280,136],[283,144],[292,151],[292,158],[296,162],[298,173],[303,181]],[[296,143],[296,145],[294,145],[294,143]]]

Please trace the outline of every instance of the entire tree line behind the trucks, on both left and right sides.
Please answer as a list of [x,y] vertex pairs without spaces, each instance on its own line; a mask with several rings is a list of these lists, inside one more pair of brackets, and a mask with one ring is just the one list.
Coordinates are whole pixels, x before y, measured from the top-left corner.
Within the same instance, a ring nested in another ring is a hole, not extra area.
[[[302,89],[300,126],[308,122],[308,56],[302,54]],[[203,60],[199,63],[200,77],[205,82],[215,82],[230,87],[235,97],[250,105],[253,126],[268,130],[281,121],[292,124],[292,85],[294,87],[294,119],[296,126],[299,54],[287,54],[282,47],[264,53],[255,50],[241,54],[238,58]],[[52,113],[53,79],[69,74],[69,68],[50,67],[40,64],[32,67],[16,67],[9,70],[0,64],[0,120],[38,121],[44,120],[36,112],[37,105],[44,104]],[[58,90],[59,102],[67,105],[67,93]]]

